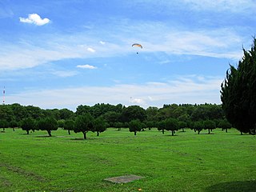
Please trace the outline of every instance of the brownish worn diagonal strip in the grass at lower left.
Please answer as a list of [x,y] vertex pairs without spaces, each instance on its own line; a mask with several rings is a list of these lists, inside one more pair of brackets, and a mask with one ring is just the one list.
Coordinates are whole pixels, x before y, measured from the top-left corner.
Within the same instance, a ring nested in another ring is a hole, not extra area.
[[22,175],[22,177],[25,177],[27,179],[33,179],[38,182],[46,182],[46,178],[43,178],[41,175],[34,174],[33,172],[28,171],[28,170],[23,170],[22,168],[20,168],[18,166],[11,166],[7,163],[1,163],[0,167],[5,167],[7,170],[9,170],[15,174]]

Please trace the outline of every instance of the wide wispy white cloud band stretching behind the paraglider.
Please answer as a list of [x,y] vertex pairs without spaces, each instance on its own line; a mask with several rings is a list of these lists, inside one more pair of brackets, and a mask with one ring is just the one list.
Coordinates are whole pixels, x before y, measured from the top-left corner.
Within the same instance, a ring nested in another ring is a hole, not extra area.
[[[45,34],[38,38],[35,35],[30,37],[30,42],[26,42],[26,44],[1,42],[0,67],[2,70],[15,70],[66,58],[111,57],[130,54],[134,52],[130,46],[131,43],[137,42],[138,39],[143,45],[143,49],[140,50],[142,52],[196,54],[215,58],[230,58],[237,61],[242,56],[244,42],[250,42],[234,30],[223,28],[186,30],[166,26],[162,22],[135,22],[133,25],[128,25],[128,29],[127,22],[118,21],[112,25],[118,25],[119,27],[115,27],[118,30],[104,36],[111,40],[104,46],[97,35],[85,35],[81,32],[72,36]],[[106,29],[102,29],[102,35],[107,34],[104,30]],[[136,31],[135,34],[134,31]],[[85,42],[85,45],[81,45],[81,42]]]

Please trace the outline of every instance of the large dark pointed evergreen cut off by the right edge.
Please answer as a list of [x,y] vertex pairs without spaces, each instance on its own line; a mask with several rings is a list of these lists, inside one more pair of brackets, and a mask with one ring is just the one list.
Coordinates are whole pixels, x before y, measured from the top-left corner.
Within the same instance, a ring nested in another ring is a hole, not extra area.
[[238,67],[230,65],[221,86],[222,108],[227,120],[243,133],[255,134],[256,124],[256,38]]

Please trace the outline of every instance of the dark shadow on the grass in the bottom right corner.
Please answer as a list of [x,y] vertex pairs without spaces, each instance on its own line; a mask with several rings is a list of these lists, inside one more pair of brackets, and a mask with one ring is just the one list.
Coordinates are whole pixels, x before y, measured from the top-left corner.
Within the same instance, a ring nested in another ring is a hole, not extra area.
[[222,182],[209,186],[206,192],[254,192],[256,191],[256,181],[244,182]]

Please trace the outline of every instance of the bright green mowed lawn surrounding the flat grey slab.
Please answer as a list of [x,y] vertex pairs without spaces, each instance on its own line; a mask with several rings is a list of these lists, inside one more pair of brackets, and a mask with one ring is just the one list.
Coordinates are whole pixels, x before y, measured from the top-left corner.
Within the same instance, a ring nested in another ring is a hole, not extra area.
[[[0,133],[0,191],[256,191],[256,137],[237,130]],[[104,178],[144,178],[114,184]]]

